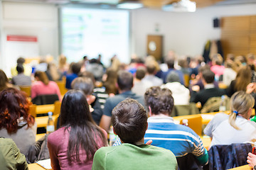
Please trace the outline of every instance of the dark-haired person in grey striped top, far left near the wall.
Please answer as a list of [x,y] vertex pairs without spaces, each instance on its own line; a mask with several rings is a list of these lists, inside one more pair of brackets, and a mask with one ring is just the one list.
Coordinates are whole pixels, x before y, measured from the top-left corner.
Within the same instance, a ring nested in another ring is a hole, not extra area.
[[11,83],[17,86],[31,86],[31,77],[24,74],[24,68],[22,64],[17,64],[18,75],[11,79]]

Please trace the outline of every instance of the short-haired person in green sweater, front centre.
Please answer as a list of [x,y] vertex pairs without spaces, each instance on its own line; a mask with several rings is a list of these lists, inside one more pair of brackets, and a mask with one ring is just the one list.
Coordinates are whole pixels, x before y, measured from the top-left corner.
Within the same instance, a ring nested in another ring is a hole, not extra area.
[[117,104],[112,111],[112,124],[122,145],[98,149],[92,170],[178,169],[171,151],[144,145],[146,120],[144,107],[134,99],[129,98]]

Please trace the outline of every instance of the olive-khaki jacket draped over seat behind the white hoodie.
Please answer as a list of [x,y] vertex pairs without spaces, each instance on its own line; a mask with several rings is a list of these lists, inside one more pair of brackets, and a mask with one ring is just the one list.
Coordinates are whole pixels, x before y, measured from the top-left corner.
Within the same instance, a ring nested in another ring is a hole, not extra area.
[[189,103],[189,105],[176,105],[174,111],[171,113],[174,116],[179,115],[196,115],[199,114],[199,109],[196,107],[196,103]]

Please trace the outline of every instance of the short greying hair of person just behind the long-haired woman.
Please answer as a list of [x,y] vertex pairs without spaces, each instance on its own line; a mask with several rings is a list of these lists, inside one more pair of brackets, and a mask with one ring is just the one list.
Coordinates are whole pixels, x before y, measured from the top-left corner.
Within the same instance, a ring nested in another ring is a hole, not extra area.
[[75,78],[71,83],[72,89],[80,90],[85,95],[91,95],[93,93],[94,85],[92,79],[88,77]]

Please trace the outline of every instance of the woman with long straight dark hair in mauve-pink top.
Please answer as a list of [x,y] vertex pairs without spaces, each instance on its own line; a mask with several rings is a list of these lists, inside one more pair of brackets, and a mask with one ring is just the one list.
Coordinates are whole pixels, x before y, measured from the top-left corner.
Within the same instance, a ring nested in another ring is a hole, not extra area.
[[63,97],[60,126],[48,136],[48,149],[53,170],[92,169],[97,149],[107,146],[107,132],[92,120],[82,91],[70,90]]

